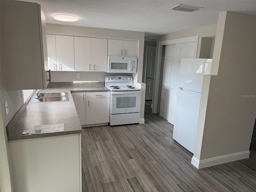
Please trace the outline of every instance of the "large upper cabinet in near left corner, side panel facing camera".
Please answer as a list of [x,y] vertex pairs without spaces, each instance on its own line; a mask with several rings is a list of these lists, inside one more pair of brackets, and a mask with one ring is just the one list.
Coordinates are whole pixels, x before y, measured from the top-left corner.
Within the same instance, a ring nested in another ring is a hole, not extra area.
[[6,90],[46,88],[46,24],[40,5],[22,1],[0,4],[1,63]]

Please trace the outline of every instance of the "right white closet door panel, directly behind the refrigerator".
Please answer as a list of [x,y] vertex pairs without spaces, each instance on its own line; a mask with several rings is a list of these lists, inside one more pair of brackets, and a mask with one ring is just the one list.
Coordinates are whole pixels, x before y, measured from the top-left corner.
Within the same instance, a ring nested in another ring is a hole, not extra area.
[[180,77],[180,63],[182,58],[196,58],[196,42],[179,43],[175,47],[174,62],[171,71],[171,90],[170,90],[170,104],[168,112],[168,122],[174,124],[175,108],[177,101],[177,93],[179,88]]

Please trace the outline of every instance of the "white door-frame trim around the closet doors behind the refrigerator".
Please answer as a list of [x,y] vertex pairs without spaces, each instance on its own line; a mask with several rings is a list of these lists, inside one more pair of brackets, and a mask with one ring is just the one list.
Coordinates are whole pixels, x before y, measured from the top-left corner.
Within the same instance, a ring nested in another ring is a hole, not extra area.
[[160,41],[156,45],[156,63],[155,63],[155,76],[154,76],[154,88],[153,88],[153,99],[152,103],[154,104],[152,108],[152,113],[156,114],[159,113],[158,106],[158,90],[159,90],[159,82],[160,82],[160,70],[161,70],[161,62],[162,62],[162,46],[163,45],[170,45],[170,44],[178,44],[178,43],[188,43],[188,42],[196,42],[196,54],[198,50],[198,37],[199,36],[192,36],[192,37],[185,37],[179,39],[172,39],[166,41]]

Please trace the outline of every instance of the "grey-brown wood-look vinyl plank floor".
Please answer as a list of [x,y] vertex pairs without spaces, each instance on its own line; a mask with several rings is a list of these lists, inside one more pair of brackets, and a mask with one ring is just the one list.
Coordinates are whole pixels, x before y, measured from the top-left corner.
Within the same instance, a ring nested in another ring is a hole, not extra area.
[[145,106],[145,124],[83,128],[83,192],[255,192],[256,132],[250,158],[201,170]]

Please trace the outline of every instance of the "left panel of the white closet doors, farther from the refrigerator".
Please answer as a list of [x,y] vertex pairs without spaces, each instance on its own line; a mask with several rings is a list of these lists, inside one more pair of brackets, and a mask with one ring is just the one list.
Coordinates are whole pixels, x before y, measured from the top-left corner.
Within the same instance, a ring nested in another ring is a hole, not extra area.
[[175,44],[166,45],[164,55],[164,71],[161,91],[160,113],[162,118],[168,120],[170,92],[171,92],[171,72],[175,56]]

